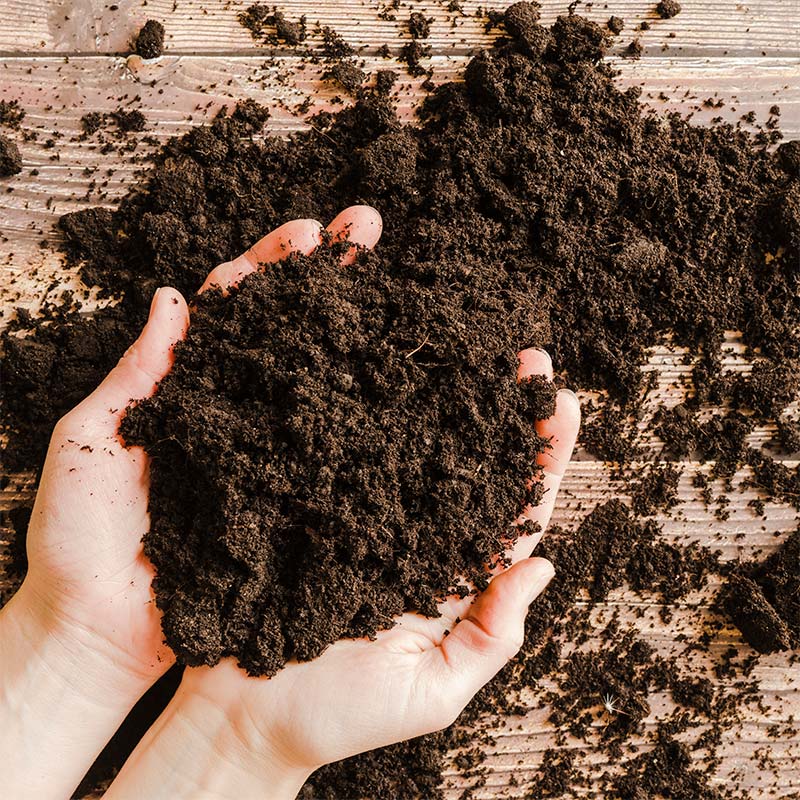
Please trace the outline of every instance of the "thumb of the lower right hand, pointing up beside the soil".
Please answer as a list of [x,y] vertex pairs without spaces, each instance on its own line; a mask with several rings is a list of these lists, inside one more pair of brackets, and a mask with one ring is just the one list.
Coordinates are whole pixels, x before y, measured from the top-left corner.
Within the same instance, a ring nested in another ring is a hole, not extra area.
[[[544,558],[527,558],[493,578],[467,616],[426,653],[423,676],[430,688],[460,711],[512,658],[525,635],[528,606],[553,577]],[[430,670],[428,672],[428,670]]]

